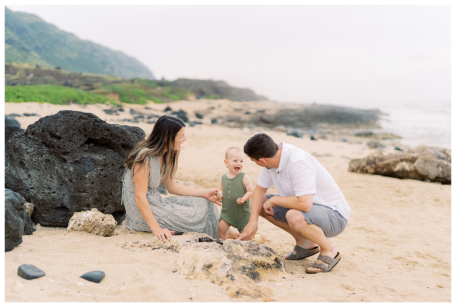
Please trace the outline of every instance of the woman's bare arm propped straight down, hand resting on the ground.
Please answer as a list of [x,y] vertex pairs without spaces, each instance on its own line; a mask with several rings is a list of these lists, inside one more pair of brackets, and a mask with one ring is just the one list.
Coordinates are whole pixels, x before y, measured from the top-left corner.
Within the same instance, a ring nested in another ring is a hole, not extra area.
[[161,241],[166,239],[171,240],[174,230],[162,229],[155,220],[152,210],[150,210],[149,201],[147,200],[147,185],[149,181],[149,157],[146,159],[145,168],[141,167],[140,163],[136,163],[134,167],[133,184],[135,184],[135,201],[138,209],[141,212],[145,222],[150,230]]

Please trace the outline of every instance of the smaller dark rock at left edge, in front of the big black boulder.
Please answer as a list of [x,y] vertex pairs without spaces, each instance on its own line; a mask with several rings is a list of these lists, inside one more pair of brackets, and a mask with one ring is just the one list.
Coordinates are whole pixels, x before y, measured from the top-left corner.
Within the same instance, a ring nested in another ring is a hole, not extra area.
[[5,251],[12,251],[22,243],[22,235],[33,234],[21,194],[5,189]]

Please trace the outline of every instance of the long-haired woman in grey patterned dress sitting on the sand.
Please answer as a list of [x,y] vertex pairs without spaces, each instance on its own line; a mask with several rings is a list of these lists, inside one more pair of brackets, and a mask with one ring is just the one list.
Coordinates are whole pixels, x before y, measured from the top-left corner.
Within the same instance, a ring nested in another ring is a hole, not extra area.
[[[185,123],[170,115],[157,120],[149,137],[138,143],[125,160],[122,201],[125,226],[152,231],[161,241],[173,233],[196,231],[218,237],[220,215],[213,204],[218,189],[193,189],[176,183],[181,144],[187,141]],[[157,188],[182,196],[161,198]]]

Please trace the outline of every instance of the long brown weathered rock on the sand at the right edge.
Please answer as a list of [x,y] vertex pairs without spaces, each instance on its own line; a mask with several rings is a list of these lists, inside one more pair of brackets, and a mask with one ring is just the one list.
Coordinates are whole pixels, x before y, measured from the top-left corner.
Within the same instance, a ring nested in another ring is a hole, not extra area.
[[451,150],[422,146],[389,155],[378,151],[350,160],[348,171],[451,184]]

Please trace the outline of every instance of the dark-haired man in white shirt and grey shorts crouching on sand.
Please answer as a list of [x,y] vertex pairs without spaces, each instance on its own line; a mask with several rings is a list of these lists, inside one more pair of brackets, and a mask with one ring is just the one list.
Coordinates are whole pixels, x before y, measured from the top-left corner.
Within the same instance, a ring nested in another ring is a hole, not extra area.
[[[249,138],[244,153],[263,169],[252,195],[249,223],[236,240],[253,240],[261,215],[295,238],[288,260],[320,252],[306,272],[330,271],[341,256],[327,238],[342,233],[350,216],[332,176],[311,154],[290,144],[276,144],[265,133]],[[273,186],[280,195],[266,194]]]

